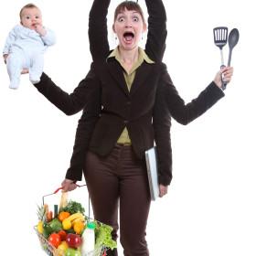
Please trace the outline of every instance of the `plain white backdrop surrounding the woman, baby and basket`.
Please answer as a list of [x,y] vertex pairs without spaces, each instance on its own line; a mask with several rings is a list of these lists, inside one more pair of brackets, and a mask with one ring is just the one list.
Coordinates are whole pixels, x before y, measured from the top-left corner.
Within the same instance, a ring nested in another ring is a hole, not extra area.
[[[120,1],[112,2],[110,13]],[[226,97],[188,126],[173,122],[174,179],[168,195],[152,205],[147,229],[151,255],[254,256],[253,1],[164,2],[168,16],[165,62],[186,101],[196,97],[219,69],[212,28],[237,27],[240,42],[233,50],[235,72]],[[45,71],[71,92],[90,68],[87,20],[92,0],[34,3],[42,9],[45,26],[58,37],[45,55]],[[139,3],[144,6],[143,0]],[[24,0],[1,1],[1,47],[25,4]],[[110,20],[111,25],[112,16]],[[114,41],[112,33],[110,41]],[[228,49],[224,48],[226,61]],[[59,187],[65,175],[80,113],[67,117],[59,112],[27,75],[17,91],[8,89],[3,61],[0,78],[1,255],[45,255],[33,231],[37,204],[42,195]]]

